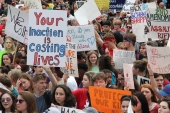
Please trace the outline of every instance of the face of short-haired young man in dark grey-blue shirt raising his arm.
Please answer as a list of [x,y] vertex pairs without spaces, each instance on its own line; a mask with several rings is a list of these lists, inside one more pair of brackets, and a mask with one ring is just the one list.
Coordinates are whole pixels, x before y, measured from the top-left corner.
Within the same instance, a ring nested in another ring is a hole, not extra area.
[[44,92],[46,89],[46,80],[39,80],[37,83],[34,83],[34,88],[39,92]]

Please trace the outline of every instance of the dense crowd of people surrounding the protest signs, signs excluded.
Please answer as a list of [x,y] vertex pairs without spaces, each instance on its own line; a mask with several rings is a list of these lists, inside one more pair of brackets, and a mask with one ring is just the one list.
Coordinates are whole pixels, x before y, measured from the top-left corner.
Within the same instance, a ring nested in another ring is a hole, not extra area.
[[[136,4],[148,2],[153,1],[140,0]],[[166,0],[155,2],[160,9],[168,8]],[[146,46],[166,47],[168,39],[136,42],[129,13],[99,9],[101,16],[89,22],[95,29],[97,50],[77,52],[79,77],[63,73],[60,67],[29,66],[27,45],[5,34],[8,5],[22,3],[5,0],[1,4],[0,48],[5,50],[0,59],[2,113],[61,113],[53,104],[80,109],[82,113],[98,113],[91,104],[89,86],[131,91],[132,95],[125,94],[120,99],[122,113],[130,113],[130,108],[135,113],[170,113],[169,74],[154,73],[146,52]],[[78,10],[75,1],[41,0],[41,3],[43,10],[66,10],[68,26],[79,26],[74,16]],[[132,69],[135,89],[128,89],[123,69],[115,68],[113,49],[135,51]],[[140,86],[137,76],[149,78],[150,84]]]

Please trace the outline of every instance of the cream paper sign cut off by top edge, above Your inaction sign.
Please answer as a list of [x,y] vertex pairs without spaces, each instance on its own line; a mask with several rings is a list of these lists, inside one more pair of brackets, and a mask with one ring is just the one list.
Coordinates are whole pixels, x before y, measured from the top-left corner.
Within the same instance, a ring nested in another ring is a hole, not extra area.
[[30,9],[42,9],[41,0],[23,0],[25,6]]

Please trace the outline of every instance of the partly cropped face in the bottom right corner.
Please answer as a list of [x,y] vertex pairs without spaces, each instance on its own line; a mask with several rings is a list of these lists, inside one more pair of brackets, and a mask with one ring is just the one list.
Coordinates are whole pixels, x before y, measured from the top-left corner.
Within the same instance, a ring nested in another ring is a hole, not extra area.
[[167,102],[161,102],[159,109],[158,109],[158,113],[170,113],[170,109],[168,107],[168,103]]

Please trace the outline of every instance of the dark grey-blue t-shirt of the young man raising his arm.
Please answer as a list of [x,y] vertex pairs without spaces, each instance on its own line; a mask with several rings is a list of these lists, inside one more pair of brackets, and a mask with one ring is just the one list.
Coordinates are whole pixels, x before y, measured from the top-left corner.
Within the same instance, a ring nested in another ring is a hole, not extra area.
[[48,109],[44,95],[42,95],[41,97],[36,97],[34,95],[34,98],[35,98],[35,101],[36,101],[38,113],[43,113],[46,109]]

